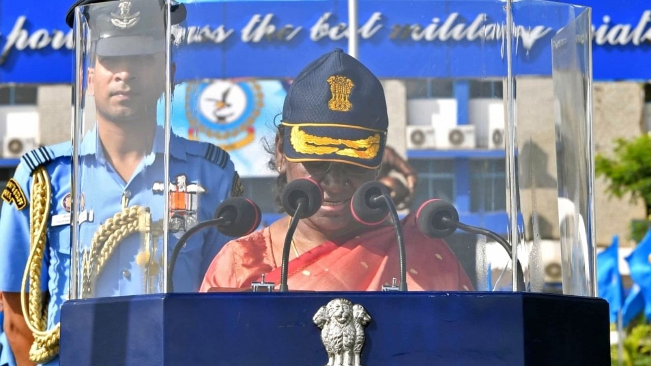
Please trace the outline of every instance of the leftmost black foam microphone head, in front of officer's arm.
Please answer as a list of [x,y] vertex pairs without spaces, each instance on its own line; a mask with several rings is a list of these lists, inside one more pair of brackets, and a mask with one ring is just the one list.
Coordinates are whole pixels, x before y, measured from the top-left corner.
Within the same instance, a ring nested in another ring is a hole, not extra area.
[[255,202],[244,197],[225,199],[215,211],[215,218],[230,221],[217,226],[217,230],[226,236],[245,236],[251,234],[260,225],[260,208]]

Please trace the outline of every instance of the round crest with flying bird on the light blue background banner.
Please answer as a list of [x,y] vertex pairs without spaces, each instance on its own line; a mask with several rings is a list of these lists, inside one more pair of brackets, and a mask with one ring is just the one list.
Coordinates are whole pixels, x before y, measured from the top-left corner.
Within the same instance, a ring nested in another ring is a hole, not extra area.
[[262,87],[255,81],[229,80],[189,83],[186,117],[190,138],[213,138],[224,150],[236,150],[255,139],[253,124],[264,106]]

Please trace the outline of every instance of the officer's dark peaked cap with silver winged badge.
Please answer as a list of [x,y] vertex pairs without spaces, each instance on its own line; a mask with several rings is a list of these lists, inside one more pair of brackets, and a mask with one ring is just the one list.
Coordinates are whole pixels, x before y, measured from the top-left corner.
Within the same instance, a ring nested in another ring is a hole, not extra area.
[[[165,51],[165,1],[79,0],[66,14],[70,27],[77,7],[83,7],[98,55],[126,56]],[[171,2],[170,10],[171,23],[180,23],[186,18],[183,4]]]

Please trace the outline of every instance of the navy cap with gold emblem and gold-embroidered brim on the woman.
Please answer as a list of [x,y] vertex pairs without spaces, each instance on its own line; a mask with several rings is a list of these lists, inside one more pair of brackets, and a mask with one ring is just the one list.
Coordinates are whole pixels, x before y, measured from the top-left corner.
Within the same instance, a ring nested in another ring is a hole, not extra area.
[[378,77],[335,49],[294,79],[283,106],[284,154],[290,162],[380,166],[387,140],[387,102]]

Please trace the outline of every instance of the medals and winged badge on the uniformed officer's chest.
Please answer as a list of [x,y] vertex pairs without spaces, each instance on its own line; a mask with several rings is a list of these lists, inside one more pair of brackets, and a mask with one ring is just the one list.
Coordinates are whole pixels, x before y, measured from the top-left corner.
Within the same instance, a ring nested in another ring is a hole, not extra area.
[[[163,182],[155,182],[154,193],[163,193]],[[187,184],[187,176],[177,175],[169,183],[169,231],[184,232],[199,221],[199,194],[206,190],[197,183]]]

